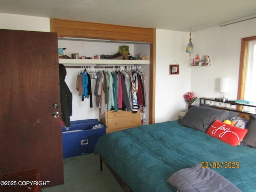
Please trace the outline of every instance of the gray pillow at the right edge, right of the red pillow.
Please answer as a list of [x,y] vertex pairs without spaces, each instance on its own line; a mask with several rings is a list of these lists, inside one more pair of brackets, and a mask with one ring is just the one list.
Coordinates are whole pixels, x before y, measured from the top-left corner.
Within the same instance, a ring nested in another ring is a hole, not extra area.
[[250,115],[250,120],[246,125],[246,133],[241,144],[256,148],[256,115]]

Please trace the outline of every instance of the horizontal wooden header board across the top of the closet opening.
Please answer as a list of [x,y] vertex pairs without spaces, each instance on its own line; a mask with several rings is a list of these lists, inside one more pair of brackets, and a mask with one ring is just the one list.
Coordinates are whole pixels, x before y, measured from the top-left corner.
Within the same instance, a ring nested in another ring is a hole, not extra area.
[[96,38],[153,43],[154,29],[50,19],[51,32],[59,37]]

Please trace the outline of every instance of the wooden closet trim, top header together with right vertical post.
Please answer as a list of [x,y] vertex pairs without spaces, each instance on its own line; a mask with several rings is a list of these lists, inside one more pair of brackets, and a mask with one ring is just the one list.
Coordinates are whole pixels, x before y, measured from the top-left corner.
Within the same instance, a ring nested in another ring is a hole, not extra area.
[[58,37],[146,42],[150,44],[149,124],[155,122],[156,29],[99,24],[50,18],[51,32]]

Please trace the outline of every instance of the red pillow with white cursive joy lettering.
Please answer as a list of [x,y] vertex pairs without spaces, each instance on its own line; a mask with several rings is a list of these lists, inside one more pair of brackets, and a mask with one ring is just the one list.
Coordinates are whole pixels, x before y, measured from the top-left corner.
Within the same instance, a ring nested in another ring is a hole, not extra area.
[[207,130],[206,134],[230,145],[237,146],[243,140],[247,131],[247,129],[234,127],[217,119]]

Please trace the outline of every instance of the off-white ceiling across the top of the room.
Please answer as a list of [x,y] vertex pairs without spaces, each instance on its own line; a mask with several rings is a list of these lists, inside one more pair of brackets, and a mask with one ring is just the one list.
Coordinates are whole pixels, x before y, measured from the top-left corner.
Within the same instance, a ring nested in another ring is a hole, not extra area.
[[256,0],[0,0],[0,13],[195,32],[256,16]]

